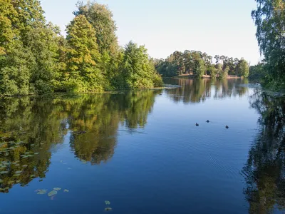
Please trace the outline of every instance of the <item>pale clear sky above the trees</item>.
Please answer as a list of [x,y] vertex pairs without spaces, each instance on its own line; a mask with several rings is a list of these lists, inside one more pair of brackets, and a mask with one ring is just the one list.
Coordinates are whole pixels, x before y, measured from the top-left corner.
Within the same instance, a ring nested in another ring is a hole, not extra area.
[[[61,27],[73,19],[77,0],[42,0],[47,21]],[[254,0],[100,0],[113,11],[121,46],[133,40],[150,56],[195,50],[214,56],[260,59],[256,28],[250,16]]]

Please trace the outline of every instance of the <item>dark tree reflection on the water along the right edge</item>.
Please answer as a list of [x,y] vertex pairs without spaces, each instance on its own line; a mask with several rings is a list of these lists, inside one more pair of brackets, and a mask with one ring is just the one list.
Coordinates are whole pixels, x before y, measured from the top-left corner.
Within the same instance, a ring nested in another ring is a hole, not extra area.
[[285,100],[255,91],[250,98],[260,114],[259,133],[242,173],[249,213],[285,209]]

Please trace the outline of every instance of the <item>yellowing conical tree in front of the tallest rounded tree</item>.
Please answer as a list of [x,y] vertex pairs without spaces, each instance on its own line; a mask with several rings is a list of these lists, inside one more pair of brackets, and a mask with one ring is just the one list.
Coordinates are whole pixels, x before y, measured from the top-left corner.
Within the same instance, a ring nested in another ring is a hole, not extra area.
[[67,26],[68,63],[63,84],[68,91],[101,91],[103,76],[98,68],[100,53],[95,30],[83,15]]

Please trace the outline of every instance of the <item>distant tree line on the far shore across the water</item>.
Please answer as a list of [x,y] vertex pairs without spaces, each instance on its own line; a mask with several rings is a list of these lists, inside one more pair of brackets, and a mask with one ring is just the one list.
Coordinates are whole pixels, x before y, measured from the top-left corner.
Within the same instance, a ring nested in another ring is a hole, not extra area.
[[209,75],[212,78],[227,78],[228,75],[249,76],[249,63],[244,58],[227,56],[213,57],[201,51],[175,51],[165,59],[153,59],[155,68],[162,76],[172,77],[192,74],[197,78]]

